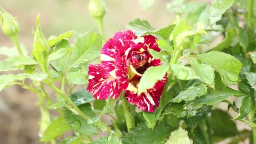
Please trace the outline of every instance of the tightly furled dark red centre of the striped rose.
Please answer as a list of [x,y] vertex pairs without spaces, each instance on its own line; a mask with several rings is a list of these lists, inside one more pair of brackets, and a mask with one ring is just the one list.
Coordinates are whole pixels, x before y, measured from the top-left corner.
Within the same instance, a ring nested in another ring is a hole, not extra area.
[[134,69],[140,69],[147,63],[147,55],[140,51],[133,51],[130,55],[130,61]]

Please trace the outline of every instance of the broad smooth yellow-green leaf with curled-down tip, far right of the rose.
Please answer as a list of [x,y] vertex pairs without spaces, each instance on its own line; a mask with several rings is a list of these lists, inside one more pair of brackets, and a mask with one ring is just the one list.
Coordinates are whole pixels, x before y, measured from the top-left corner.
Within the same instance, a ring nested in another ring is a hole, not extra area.
[[211,65],[221,75],[222,83],[225,85],[234,85],[239,80],[242,63],[235,57],[219,51],[201,53],[197,57]]

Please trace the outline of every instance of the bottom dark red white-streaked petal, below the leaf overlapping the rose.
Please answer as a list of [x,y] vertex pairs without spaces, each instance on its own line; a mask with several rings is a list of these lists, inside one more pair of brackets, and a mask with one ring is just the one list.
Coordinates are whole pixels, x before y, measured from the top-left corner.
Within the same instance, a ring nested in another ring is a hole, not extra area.
[[159,101],[163,92],[163,88],[153,91],[152,93],[141,93],[140,96],[130,91],[125,91],[125,98],[130,104],[136,105],[145,112],[155,112],[155,108],[159,106]]

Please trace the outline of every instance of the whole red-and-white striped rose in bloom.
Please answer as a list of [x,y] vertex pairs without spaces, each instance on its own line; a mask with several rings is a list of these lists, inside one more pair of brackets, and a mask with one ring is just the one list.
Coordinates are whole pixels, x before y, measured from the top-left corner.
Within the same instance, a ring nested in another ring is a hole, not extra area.
[[167,75],[154,88],[137,94],[137,85],[149,67],[163,64],[155,59],[148,48],[160,51],[156,37],[146,35],[137,38],[131,31],[116,32],[101,49],[101,63],[89,64],[87,90],[96,99],[117,98],[125,90],[125,98],[146,112],[154,112],[159,106]]

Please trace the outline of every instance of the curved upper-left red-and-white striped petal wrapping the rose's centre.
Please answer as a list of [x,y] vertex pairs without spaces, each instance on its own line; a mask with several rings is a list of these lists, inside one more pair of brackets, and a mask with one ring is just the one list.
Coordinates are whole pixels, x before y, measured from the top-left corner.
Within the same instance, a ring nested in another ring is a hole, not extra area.
[[104,69],[113,77],[115,75],[115,58],[117,53],[126,51],[133,44],[131,40],[109,39],[101,49],[101,63]]

